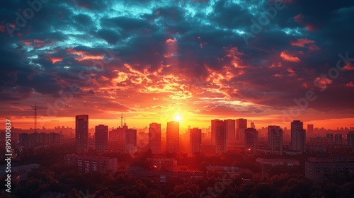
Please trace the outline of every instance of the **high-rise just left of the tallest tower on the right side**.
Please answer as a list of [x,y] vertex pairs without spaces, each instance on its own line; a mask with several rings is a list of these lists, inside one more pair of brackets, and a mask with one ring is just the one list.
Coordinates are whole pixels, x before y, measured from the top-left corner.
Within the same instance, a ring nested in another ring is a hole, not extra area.
[[270,153],[282,155],[282,129],[279,126],[268,126],[268,145]]

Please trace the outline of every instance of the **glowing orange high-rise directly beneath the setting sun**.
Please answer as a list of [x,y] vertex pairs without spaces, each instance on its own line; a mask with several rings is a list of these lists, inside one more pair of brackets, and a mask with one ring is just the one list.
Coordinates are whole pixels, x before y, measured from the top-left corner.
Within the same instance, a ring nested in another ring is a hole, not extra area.
[[179,122],[167,122],[166,128],[166,150],[168,153],[179,151]]

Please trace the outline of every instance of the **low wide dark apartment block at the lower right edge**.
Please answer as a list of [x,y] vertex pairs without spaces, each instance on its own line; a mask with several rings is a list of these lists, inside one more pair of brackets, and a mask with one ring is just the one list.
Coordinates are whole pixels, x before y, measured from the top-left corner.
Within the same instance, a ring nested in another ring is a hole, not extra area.
[[305,175],[315,182],[326,182],[346,175],[354,179],[354,156],[331,156],[326,158],[307,158]]

